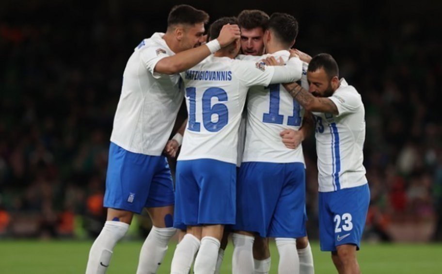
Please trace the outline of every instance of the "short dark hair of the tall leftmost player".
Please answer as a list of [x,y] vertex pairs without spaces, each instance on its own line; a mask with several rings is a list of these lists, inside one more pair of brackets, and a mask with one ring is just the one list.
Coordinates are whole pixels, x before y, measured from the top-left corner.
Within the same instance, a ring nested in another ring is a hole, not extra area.
[[194,25],[209,21],[209,15],[202,10],[197,10],[189,5],[176,5],[172,8],[167,17],[167,28],[177,24]]

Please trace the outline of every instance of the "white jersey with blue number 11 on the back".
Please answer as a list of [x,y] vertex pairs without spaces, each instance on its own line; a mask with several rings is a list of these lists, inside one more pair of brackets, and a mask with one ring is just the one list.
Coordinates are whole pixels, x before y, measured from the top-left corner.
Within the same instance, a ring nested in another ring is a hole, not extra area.
[[[260,60],[270,55],[276,59],[282,57],[286,62],[290,57],[290,52],[280,50],[265,56],[254,56],[254,58]],[[244,59],[248,60],[250,57]],[[307,67],[308,64],[304,63],[302,68],[304,87]],[[298,80],[300,79],[296,79]],[[302,145],[296,149],[287,148],[280,135],[284,129],[298,130],[302,125],[303,116],[304,109],[286,92],[282,84],[272,84],[268,87],[253,86],[247,95],[247,134],[242,161],[304,163]]]

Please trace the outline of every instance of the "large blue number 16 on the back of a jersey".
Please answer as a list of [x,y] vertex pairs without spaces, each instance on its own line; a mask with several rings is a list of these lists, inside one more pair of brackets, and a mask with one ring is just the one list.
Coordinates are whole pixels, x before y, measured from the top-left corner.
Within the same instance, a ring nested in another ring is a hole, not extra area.
[[[192,131],[200,131],[201,126],[196,122],[196,88],[186,88],[186,97],[189,97],[189,126],[188,129]],[[229,111],[227,106],[218,103],[211,106],[213,97],[217,97],[218,101],[227,101],[227,93],[221,88],[211,87],[203,93],[203,125],[204,128],[210,132],[220,131],[227,125],[229,120]],[[218,114],[218,121],[212,122],[212,115]]]

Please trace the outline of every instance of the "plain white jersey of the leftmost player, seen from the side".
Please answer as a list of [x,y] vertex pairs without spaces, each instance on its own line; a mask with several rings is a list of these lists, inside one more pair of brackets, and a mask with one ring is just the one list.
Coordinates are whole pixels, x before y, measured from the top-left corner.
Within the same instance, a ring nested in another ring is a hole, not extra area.
[[164,57],[174,55],[162,36],[144,39],[130,56],[123,74],[111,142],[146,155],[161,155],[183,100],[179,75],[154,72]]

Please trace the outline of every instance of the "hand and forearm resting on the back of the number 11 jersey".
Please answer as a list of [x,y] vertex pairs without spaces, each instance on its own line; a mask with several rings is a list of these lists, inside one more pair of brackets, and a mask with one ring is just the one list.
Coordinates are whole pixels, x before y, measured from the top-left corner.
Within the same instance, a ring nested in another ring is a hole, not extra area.
[[299,130],[293,129],[284,129],[281,131],[280,136],[284,145],[287,148],[295,149],[302,143],[302,141],[307,138],[310,133],[313,131],[315,126],[315,121],[313,120],[312,113],[305,112],[304,118],[302,121],[302,126]]

